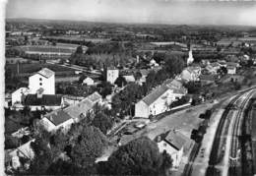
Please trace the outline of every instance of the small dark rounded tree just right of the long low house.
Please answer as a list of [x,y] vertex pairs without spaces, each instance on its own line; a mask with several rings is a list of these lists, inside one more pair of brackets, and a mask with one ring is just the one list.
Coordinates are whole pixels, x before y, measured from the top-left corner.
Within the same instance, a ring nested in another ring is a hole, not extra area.
[[103,134],[106,134],[113,126],[113,121],[103,112],[96,114],[95,119],[93,120],[93,125],[97,127]]

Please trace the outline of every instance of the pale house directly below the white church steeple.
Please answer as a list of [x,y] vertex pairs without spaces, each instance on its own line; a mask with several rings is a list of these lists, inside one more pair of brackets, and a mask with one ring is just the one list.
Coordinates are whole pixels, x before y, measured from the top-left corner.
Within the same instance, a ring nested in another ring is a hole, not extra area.
[[199,81],[201,71],[201,67],[187,67],[180,74],[181,80],[185,82]]

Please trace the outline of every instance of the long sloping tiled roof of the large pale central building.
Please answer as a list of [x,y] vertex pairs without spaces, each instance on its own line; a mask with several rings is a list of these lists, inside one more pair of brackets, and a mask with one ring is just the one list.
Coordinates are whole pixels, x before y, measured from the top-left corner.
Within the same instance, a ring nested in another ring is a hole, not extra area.
[[150,94],[145,96],[142,100],[148,104],[151,105],[154,103],[161,94],[163,94],[168,88],[165,86],[160,86],[159,88],[154,89]]

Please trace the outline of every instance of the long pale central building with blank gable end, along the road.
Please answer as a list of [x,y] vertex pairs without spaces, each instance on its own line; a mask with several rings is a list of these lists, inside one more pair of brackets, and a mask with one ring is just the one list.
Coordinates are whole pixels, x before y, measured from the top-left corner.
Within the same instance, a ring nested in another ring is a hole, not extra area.
[[135,104],[135,116],[149,118],[150,115],[158,115],[165,112],[169,109],[171,102],[181,98],[186,93],[185,88],[162,85]]

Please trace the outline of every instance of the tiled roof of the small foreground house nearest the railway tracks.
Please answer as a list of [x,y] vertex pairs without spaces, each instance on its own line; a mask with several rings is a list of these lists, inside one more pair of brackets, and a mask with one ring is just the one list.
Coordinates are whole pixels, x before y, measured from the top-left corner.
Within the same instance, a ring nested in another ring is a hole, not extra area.
[[170,146],[175,147],[178,150],[181,149],[181,147],[184,147],[187,142],[185,136],[181,135],[178,132],[174,132],[172,130],[169,131],[164,141]]

